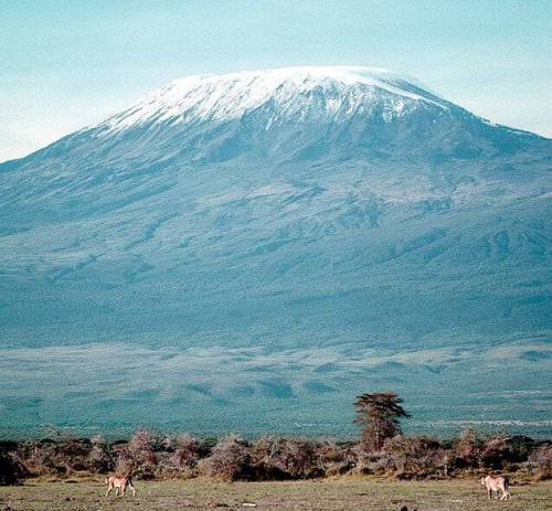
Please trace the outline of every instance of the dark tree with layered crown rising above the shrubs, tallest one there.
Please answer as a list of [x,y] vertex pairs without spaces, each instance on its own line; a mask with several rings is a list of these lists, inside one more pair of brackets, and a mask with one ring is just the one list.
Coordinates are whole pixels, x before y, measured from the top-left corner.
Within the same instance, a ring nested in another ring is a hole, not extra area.
[[388,438],[401,434],[401,417],[410,417],[402,407],[403,400],[394,392],[362,394],[357,397],[355,424],[362,427],[362,444],[371,450],[380,450]]

